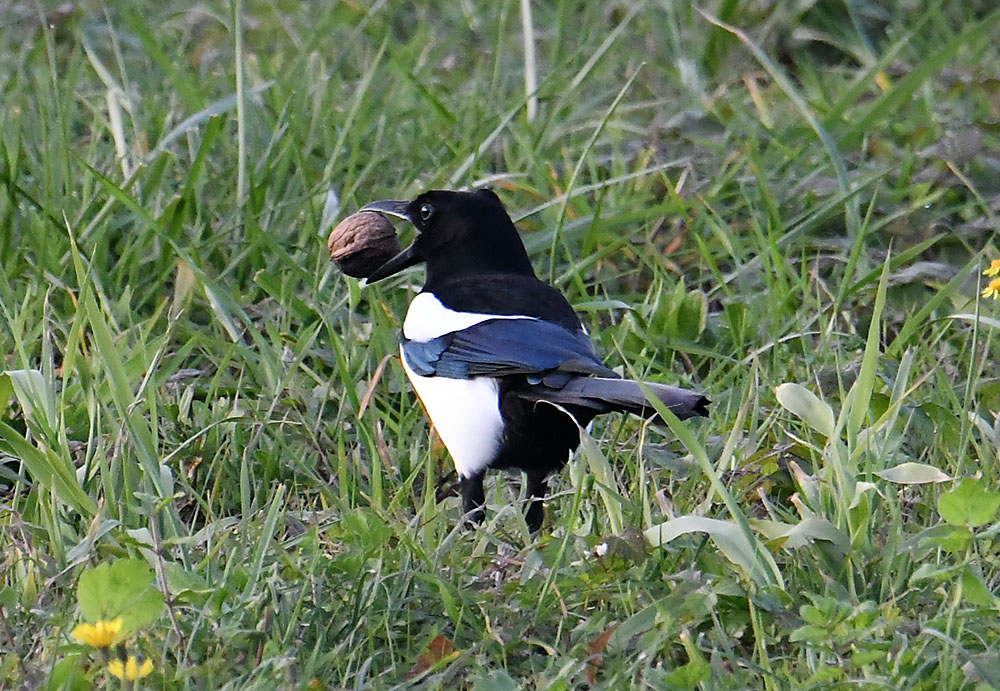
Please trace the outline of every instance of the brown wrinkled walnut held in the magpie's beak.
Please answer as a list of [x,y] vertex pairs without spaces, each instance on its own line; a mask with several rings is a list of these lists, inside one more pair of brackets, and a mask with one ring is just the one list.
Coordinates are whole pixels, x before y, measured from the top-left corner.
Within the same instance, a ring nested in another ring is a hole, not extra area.
[[345,218],[330,233],[326,246],[340,270],[354,278],[367,278],[403,249],[389,219],[375,211]]

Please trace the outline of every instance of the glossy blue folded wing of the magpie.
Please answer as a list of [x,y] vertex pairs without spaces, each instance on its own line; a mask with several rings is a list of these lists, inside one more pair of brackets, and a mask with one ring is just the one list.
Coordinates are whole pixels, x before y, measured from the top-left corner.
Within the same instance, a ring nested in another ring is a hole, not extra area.
[[424,377],[525,374],[543,382],[567,374],[616,376],[601,362],[586,333],[542,319],[490,319],[429,341],[405,340],[403,355]]

